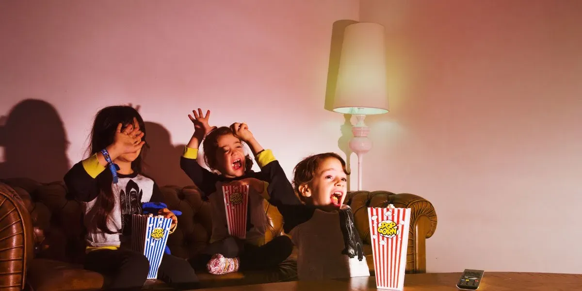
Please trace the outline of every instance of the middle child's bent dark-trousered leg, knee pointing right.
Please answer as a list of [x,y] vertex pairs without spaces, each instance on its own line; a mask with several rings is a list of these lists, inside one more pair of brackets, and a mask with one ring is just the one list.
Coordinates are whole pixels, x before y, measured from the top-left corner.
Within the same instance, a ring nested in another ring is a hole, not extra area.
[[279,265],[293,251],[293,242],[288,236],[274,237],[260,247],[246,245],[240,255],[240,269],[265,269]]

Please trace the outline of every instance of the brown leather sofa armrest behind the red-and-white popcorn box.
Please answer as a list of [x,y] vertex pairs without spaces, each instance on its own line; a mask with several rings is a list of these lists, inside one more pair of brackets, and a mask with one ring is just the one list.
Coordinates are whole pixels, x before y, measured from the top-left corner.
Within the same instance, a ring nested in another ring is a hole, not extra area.
[[437,229],[437,212],[423,197],[388,191],[353,191],[347,193],[346,204],[352,207],[356,229],[364,243],[370,244],[368,207],[386,207],[393,204],[397,208],[410,208],[410,230],[406,254],[406,272],[424,273],[427,269],[426,239]]

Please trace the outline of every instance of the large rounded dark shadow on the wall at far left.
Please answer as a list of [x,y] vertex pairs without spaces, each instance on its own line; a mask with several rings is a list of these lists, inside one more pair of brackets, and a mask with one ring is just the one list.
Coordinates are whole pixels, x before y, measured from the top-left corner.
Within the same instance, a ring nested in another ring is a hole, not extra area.
[[61,116],[42,100],[21,101],[0,118],[0,147],[4,150],[0,178],[54,182],[70,168]]

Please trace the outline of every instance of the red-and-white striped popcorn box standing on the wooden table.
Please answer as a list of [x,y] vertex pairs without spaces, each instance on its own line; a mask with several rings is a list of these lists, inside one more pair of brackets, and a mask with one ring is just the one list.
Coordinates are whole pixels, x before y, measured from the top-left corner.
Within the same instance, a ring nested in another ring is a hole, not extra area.
[[410,208],[368,207],[368,218],[376,287],[402,290],[406,271]]

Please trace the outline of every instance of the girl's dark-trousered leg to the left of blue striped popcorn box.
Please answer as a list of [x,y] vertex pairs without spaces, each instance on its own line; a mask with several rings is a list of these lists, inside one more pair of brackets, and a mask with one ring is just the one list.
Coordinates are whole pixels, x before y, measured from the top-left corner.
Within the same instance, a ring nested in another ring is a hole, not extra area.
[[87,254],[85,269],[110,276],[108,288],[140,290],[150,270],[145,255],[131,250],[94,250]]

